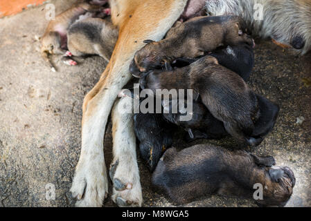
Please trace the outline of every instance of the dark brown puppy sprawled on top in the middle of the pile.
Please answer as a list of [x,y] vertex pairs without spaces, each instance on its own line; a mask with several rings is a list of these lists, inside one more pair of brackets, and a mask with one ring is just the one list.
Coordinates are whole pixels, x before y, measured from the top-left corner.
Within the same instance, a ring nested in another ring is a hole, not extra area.
[[141,77],[140,84],[154,95],[156,89],[193,89],[193,97],[201,97],[230,135],[250,146],[258,145],[258,137],[252,137],[260,117],[258,98],[239,75],[220,66],[215,57],[202,57],[172,71],[150,71]]

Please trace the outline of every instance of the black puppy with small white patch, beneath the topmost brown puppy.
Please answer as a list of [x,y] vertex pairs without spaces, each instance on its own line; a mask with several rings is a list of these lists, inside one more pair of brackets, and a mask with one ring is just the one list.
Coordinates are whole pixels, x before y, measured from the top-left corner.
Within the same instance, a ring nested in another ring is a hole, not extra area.
[[[221,66],[237,73],[245,81],[249,81],[251,70],[254,68],[254,45],[249,45],[245,42],[236,46],[218,48],[208,55],[215,57]],[[182,68],[197,61],[197,59],[199,58],[177,58],[172,62],[172,67]]]

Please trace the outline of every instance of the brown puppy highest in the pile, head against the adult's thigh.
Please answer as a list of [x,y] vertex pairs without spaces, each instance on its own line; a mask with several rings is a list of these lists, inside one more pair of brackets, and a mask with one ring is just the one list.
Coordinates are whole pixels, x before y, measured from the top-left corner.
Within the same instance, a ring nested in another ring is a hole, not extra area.
[[236,16],[195,17],[179,23],[169,30],[166,39],[145,41],[148,44],[136,52],[130,71],[137,76],[139,71],[162,68],[179,57],[199,57],[219,46],[243,42],[253,45],[253,39],[241,34],[240,23]]

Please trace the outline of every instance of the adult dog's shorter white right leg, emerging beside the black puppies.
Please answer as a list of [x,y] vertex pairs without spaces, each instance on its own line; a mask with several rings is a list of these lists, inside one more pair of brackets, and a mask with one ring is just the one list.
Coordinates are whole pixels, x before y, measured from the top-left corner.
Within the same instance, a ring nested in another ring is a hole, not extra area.
[[117,99],[112,109],[114,159],[109,175],[113,183],[112,200],[118,206],[141,206],[143,196],[136,160],[136,137],[131,97]]

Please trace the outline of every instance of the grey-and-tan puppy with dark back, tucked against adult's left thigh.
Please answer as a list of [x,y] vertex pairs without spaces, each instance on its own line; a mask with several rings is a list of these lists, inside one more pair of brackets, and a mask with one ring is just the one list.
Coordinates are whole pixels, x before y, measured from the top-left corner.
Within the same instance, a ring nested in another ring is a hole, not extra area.
[[109,19],[88,18],[73,23],[68,30],[68,49],[73,56],[100,55],[109,61],[118,28]]

